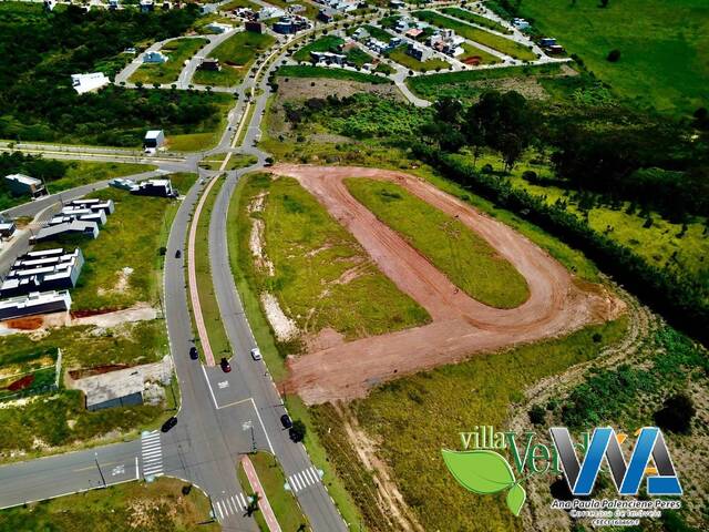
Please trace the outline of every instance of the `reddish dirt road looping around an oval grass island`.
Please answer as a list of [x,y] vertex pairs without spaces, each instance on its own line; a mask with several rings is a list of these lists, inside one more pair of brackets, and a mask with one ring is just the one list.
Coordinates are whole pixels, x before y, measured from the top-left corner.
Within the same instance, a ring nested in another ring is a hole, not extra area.
[[[451,364],[482,350],[500,349],[568,332],[612,319],[624,303],[604,287],[574,279],[568,270],[526,237],[432,184],[394,171],[279,164],[347,227],[379,268],[432,317],[432,323],[354,341],[321,341],[321,349],[289,360],[286,389],[309,405],[363,397],[377,383]],[[398,233],[348,192],[343,180],[394,182],[458,218],[487,241],[522,274],[530,298],[513,309],[483,305],[459,290]],[[327,334],[327,331],[323,331]]]

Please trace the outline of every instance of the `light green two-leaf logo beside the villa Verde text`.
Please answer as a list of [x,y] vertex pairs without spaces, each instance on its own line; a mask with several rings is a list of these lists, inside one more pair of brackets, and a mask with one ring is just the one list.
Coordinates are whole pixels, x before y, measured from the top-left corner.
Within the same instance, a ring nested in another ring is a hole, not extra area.
[[507,492],[507,508],[520,515],[526,492],[514,479],[514,472],[505,458],[495,451],[451,451],[443,449],[443,461],[455,480],[469,491],[479,494]]

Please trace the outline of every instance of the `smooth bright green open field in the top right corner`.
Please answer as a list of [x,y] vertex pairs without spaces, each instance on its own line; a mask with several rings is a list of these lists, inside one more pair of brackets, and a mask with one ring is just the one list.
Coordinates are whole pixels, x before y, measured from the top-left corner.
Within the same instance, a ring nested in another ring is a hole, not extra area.
[[[639,106],[672,114],[707,106],[709,4],[705,0],[525,0],[520,10]],[[610,50],[620,60],[606,60]]]

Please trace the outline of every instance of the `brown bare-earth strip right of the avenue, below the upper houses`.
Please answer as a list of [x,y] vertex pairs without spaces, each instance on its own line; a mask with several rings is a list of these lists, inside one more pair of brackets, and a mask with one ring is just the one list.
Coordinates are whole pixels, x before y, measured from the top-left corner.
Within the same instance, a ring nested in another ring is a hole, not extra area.
[[369,92],[382,98],[404,100],[395,85],[360,83],[358,81],[329,80],[318,78],[279,78],[279,100],[308,100],[310,98],[351,96],[358,92]]

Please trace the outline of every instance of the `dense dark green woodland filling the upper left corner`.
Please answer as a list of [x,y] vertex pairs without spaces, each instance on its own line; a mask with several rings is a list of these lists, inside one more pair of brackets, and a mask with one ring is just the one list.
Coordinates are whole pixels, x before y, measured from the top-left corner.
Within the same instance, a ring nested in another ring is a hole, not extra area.
[[0,62],[0,137],[138,145],[146,126],[174,134],[214,125],[217,95],[111,86],[80,96],[71,86],[71,74],[111,73],[111,61],[125,48],[179,35],[196,18],[194,4],[160,13],[4,7],[0,54],[8,60]]

